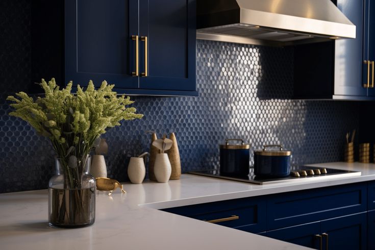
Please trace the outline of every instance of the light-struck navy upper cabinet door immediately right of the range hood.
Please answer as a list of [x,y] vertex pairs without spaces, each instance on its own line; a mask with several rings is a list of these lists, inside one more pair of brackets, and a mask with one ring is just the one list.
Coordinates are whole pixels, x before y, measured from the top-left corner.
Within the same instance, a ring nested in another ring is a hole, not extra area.
[[[335,95],[366,96],[363,87],[363,0],[338,0],[337,7],[356,26],[356,39],[335,42]],[[366,78],[367,79],[367,78]]]

